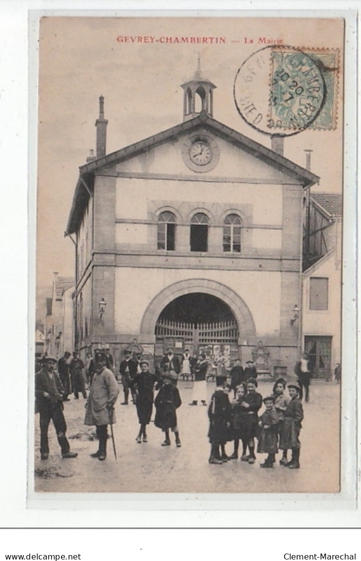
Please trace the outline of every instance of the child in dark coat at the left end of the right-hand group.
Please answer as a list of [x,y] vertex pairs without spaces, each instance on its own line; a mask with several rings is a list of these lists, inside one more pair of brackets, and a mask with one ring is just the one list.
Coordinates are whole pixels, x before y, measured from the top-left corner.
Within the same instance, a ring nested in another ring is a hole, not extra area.
[[[208,436],[211,443],[209,463],[221,464],[229,460],[224,447],[225,443],[229,440],[232,409],[228,393],[224,391],[225,383],[226,376],[224,374],[216,376],[216,390],[211,397],[208,409],[210,421]],[[221,453],[219,452],[219,447],[221,447]]]

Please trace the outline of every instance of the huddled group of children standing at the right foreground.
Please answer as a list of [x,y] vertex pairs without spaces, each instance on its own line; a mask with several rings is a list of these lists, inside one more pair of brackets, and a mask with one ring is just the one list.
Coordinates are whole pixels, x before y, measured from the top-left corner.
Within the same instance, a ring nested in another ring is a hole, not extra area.
[[[257,453],[267,454],[261,464],[263,468],[272,468],[279,449],[283,450],[280,465],[290,469],[300,467],[299,434],[303,419],[302,403],[299,399],[297,384],[288,384],[289,397],[285,395],[286,381],[276,381],[272,395],[262,399],[257,392],[257,380],[248,379],[235,388],[235,398],[230,403],[225,389],[226,377],[216,377],[216,390],[209,406],[209,440],[211,454],[209,463],[221,464],[230,459],[238,459],[239,441],[242,442],[241,462],[253,464],[254,439],[258,439]],[[258,417],[258,411],[265,404],[265,411]],[[232,456],[227,456],[225,445],[234,442]],[[248,448],[248,453],[247,453]],[[287,453],[291,450],[291,459]]]

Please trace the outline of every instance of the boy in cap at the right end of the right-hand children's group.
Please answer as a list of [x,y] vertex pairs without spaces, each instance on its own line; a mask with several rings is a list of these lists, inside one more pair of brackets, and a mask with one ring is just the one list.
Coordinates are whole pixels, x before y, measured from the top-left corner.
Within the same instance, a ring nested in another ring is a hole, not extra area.
[[299,454],[301,443],[299,441],[299,433],[302,428],[303,408],[299,399],[300,388],[297,384],[288,384],[288,392],[291,398],[284,413],[283,429],[280,437],[281,450],[291,449],[291,461],[285,466],[291,470],[299,469]]

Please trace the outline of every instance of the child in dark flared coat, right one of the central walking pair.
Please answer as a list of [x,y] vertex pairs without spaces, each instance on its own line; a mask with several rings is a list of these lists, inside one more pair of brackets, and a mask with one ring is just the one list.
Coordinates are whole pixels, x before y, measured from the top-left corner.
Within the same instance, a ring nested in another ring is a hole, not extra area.
[[175,436],[175,444],[180,448],[179,431],[177,427],[177,409],[182,404],[179,390],[173,385],[171,376],[163,375],[163,385],[161,386],[155,401],[154,424],[165,433],[165,440],[162,446],[170,446],[169,429]]

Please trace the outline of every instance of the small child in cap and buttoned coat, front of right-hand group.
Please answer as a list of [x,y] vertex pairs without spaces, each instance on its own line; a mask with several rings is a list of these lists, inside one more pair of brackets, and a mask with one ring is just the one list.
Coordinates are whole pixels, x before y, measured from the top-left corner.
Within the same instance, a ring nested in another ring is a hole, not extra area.
[[278,415],[275,410],[275,398],[273,396],[263,399],[266,410],[262,413],[258,425],[260,434],[258,435],[257,452],[260,454],[268,454],[261,467],[273,467],[275,463],[275,454],[278,452]]

